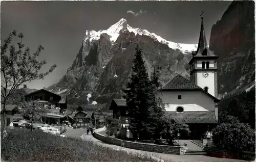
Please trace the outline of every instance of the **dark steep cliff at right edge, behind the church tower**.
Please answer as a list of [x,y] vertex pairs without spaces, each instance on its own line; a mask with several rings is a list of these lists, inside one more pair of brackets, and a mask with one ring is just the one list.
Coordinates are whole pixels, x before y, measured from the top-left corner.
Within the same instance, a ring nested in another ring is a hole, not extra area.
[[254,2],[233,1],[212,26],[209,49],[219,56],[219,94],[255,85]]

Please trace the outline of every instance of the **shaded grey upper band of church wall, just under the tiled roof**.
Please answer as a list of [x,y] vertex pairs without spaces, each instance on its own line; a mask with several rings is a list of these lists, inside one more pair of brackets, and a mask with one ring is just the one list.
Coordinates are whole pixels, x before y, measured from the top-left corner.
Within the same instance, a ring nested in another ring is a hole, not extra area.
[[[181,95],[181,99],[178,99],[178,95]],[[157,94],[162,98],[163,103],[169,104],[198,104],[204,109],[209,111],[215,111],[214,99],[207,96],[202,91],[161,91]]]

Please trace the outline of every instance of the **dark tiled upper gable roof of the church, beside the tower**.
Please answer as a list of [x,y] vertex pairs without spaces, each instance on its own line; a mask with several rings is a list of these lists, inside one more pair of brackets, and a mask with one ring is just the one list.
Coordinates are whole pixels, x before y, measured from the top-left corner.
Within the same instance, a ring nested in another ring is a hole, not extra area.
[[166,90],[199,90],[210,96],[214,99],[215,102],[220,102],[220,100],[208,92],[205,92],[201,87],[194,84],[187,78],[181,76],[180,74],[176,74],[172,79],[165,84],[160,91],[166,91]]

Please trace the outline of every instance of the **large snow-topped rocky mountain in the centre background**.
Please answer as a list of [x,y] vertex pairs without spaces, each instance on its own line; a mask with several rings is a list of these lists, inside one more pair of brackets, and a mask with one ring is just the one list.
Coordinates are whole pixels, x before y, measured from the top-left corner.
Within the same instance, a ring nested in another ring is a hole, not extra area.
[[189,78],[190,52],[196,50],[197,45],[166,41],[146,30],[133,29],[125,19],[120,19],[108,30],[86,31],[67,74],[47,89],[69,94],[69,103],[104,104],[114,97],[120,98],[138,44],[149,72],[153,70],[153,62],[162,67],[162,83],[174,72]]

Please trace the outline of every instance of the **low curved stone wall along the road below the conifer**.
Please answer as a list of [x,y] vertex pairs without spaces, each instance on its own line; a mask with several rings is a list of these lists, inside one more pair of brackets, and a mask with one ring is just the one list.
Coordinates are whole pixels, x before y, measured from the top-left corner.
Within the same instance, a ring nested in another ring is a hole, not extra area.
[[121,143],[124,143],[124,147],[126,148],[143,150],[143,151],[177,154],[177,155],[183,155],[187,151],[187,146],[165,146],[165,145],[131,142],[131,141],[119,140],[112,137],[107,137],[102,134],[99,134],[98,132],[94,132],[93,137],[103,142],[118,145],[118,146],[121,146]]

